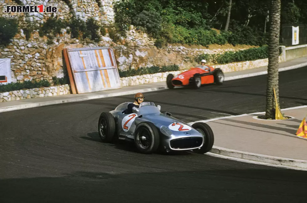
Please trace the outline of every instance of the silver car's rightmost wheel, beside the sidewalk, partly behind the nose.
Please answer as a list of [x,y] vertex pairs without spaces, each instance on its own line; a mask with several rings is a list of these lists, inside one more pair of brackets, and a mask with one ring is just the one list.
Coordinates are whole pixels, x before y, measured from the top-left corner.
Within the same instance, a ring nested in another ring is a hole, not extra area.
[[200,149],[193,149],[193,152],[204,154],[209,152],[214,143],[214,135],[211,127],[203,122],[197,122],[192,125],[192,127],[199,131],[204,136],[204,144]]

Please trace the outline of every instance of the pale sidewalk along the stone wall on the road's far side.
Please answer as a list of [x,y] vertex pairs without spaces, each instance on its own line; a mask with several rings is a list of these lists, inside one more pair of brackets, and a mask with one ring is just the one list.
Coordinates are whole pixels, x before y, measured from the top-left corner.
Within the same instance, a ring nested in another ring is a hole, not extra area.
[[[297,58],[292,61],[286,61],[283,63],[279,63],[279,71],[285,71],[285,70],[304,67],[304,66],[307,66],[307,57]],[[260,67],[260,68],[248,69],[248,70],[243,70],[243,71],[226,72],[224,74],[225,81],[244,78],[244,77],[264,75],[264,74],[267,74],[267,69],[268,67]],[[138,92],[151,92],[151,91],[157,91],[157,90],[162,90],[162,89],[167,89],[165,82],[147,83],[147,84],[134,85],[134,86],[123,87],[120,89],[106,90],[106,91],[93,92],[93,93],[65,94],[65,95],[58,95],[58,96],[52,96],[52,97],[22,99],[22,100],[17,100],[17,101],[1,102],[0,103],[0,113],[5,112],[5,111],[34,108],[34,107],[45,106],[45,105],[62,104],[62,103],[68,103],[68,102],[85,101],[85,100],[90,100],[90,99],[100,99],[100,98],[106,98],[106,97],[129,95],[129,94],[135,94]]]

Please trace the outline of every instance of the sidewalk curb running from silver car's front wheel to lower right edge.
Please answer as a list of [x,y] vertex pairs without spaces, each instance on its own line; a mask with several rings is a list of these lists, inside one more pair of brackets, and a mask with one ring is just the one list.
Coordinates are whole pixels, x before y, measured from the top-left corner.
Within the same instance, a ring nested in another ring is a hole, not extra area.
[[223,147],[213,146],[211,153],[223,155],[226,157],[239,158],[249,161],[255,161],[260,163],[268,163],[272,165],[280,165],[286,167],[294,167],[300,169],[307,169],[307,160],[291,159],[283,157],[274,157],[264,154],[255,154],[251,152],[243,152],[233,149],[227,149]]

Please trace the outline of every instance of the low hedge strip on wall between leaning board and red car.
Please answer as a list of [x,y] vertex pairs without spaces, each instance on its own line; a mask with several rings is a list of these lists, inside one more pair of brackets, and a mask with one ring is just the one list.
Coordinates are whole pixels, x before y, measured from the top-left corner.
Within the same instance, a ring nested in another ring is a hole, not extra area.
[[168,72],[168,71],[178,71],[179,66],[177,65],[170,65],[170,66],[152,66],[152,67],[140,67],[138,69],[129,69],[127,71],[120,71],[120,77],[129,77],[129,76],[137,76],[137,75],[144,75],[144,74],[154,74],[159,72]]

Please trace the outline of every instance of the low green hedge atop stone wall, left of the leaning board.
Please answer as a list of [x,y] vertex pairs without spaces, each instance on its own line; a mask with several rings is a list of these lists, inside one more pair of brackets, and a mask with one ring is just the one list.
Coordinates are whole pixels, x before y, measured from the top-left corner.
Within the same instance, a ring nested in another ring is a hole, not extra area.
[[[67,84],[67,79],[53,77],[53,83],[55,85],[64,85]],[[24,81],[23,83],[8,83],[5,85],[0,84],[0,93],[1,92],[11,92],[15,90],[21,89],[33,89],[33,88],[41,88],[41,87],[50,87],[51,83],[48,80],[40,80],[40,81]]]

